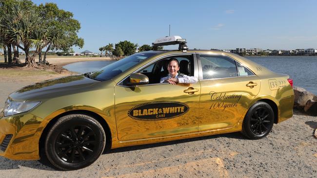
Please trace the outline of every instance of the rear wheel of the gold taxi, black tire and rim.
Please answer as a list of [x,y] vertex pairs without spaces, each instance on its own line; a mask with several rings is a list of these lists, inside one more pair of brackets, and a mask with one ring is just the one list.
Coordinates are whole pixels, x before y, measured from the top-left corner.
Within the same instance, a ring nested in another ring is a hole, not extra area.
[[273,124],[274,112],[272,107],[259,101],[250,107],[245,115],[241,132],[249,139],[261,139],[271,132]]

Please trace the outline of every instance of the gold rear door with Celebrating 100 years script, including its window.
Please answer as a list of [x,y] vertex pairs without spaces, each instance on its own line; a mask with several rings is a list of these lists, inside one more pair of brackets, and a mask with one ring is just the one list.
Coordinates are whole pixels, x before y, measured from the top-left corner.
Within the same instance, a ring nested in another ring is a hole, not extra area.
[[201,85],[198,130],[239,128],[239,121],[260,89],[260,80],[233,58],[198,54]]

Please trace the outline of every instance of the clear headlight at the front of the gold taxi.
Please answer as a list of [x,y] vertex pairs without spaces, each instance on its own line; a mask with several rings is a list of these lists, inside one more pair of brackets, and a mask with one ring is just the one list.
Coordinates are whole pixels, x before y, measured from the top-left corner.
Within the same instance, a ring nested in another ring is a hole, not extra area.
[[18,114],[21,112],[26,112],[33,109],[39,104],[40,104],[40,101],[16,102],[16,101],[7,100],[4,104],[3,113],[4,113],[4,116],[10,116],[10,115]]

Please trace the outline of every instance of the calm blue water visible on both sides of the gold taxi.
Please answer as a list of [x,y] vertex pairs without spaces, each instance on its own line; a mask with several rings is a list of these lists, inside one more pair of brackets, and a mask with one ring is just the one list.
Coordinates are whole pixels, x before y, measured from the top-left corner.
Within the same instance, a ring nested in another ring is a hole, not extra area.
[[[293,79],[294,85],[317,94],[317,56],[268,56],[246,58],[278,73],[285,73]],[[85,73],[97,71],[114,61],[77,62],[64,66],[65,69]]]

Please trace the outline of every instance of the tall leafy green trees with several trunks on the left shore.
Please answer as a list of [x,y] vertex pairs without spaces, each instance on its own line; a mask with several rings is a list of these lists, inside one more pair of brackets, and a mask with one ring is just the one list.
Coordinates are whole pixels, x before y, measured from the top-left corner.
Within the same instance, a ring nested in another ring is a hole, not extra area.
[[49,50],[69,51],[74,45],[82,48],[84,40],[78,36],[79,29],[80,23],[73,13],[59,9],[55,3],[36,5],[31,0],[0,0],[0,48],[5,63],[21,63],[19,49],[25,53],[26,66],[37,67],[37,55],[45,64]]

